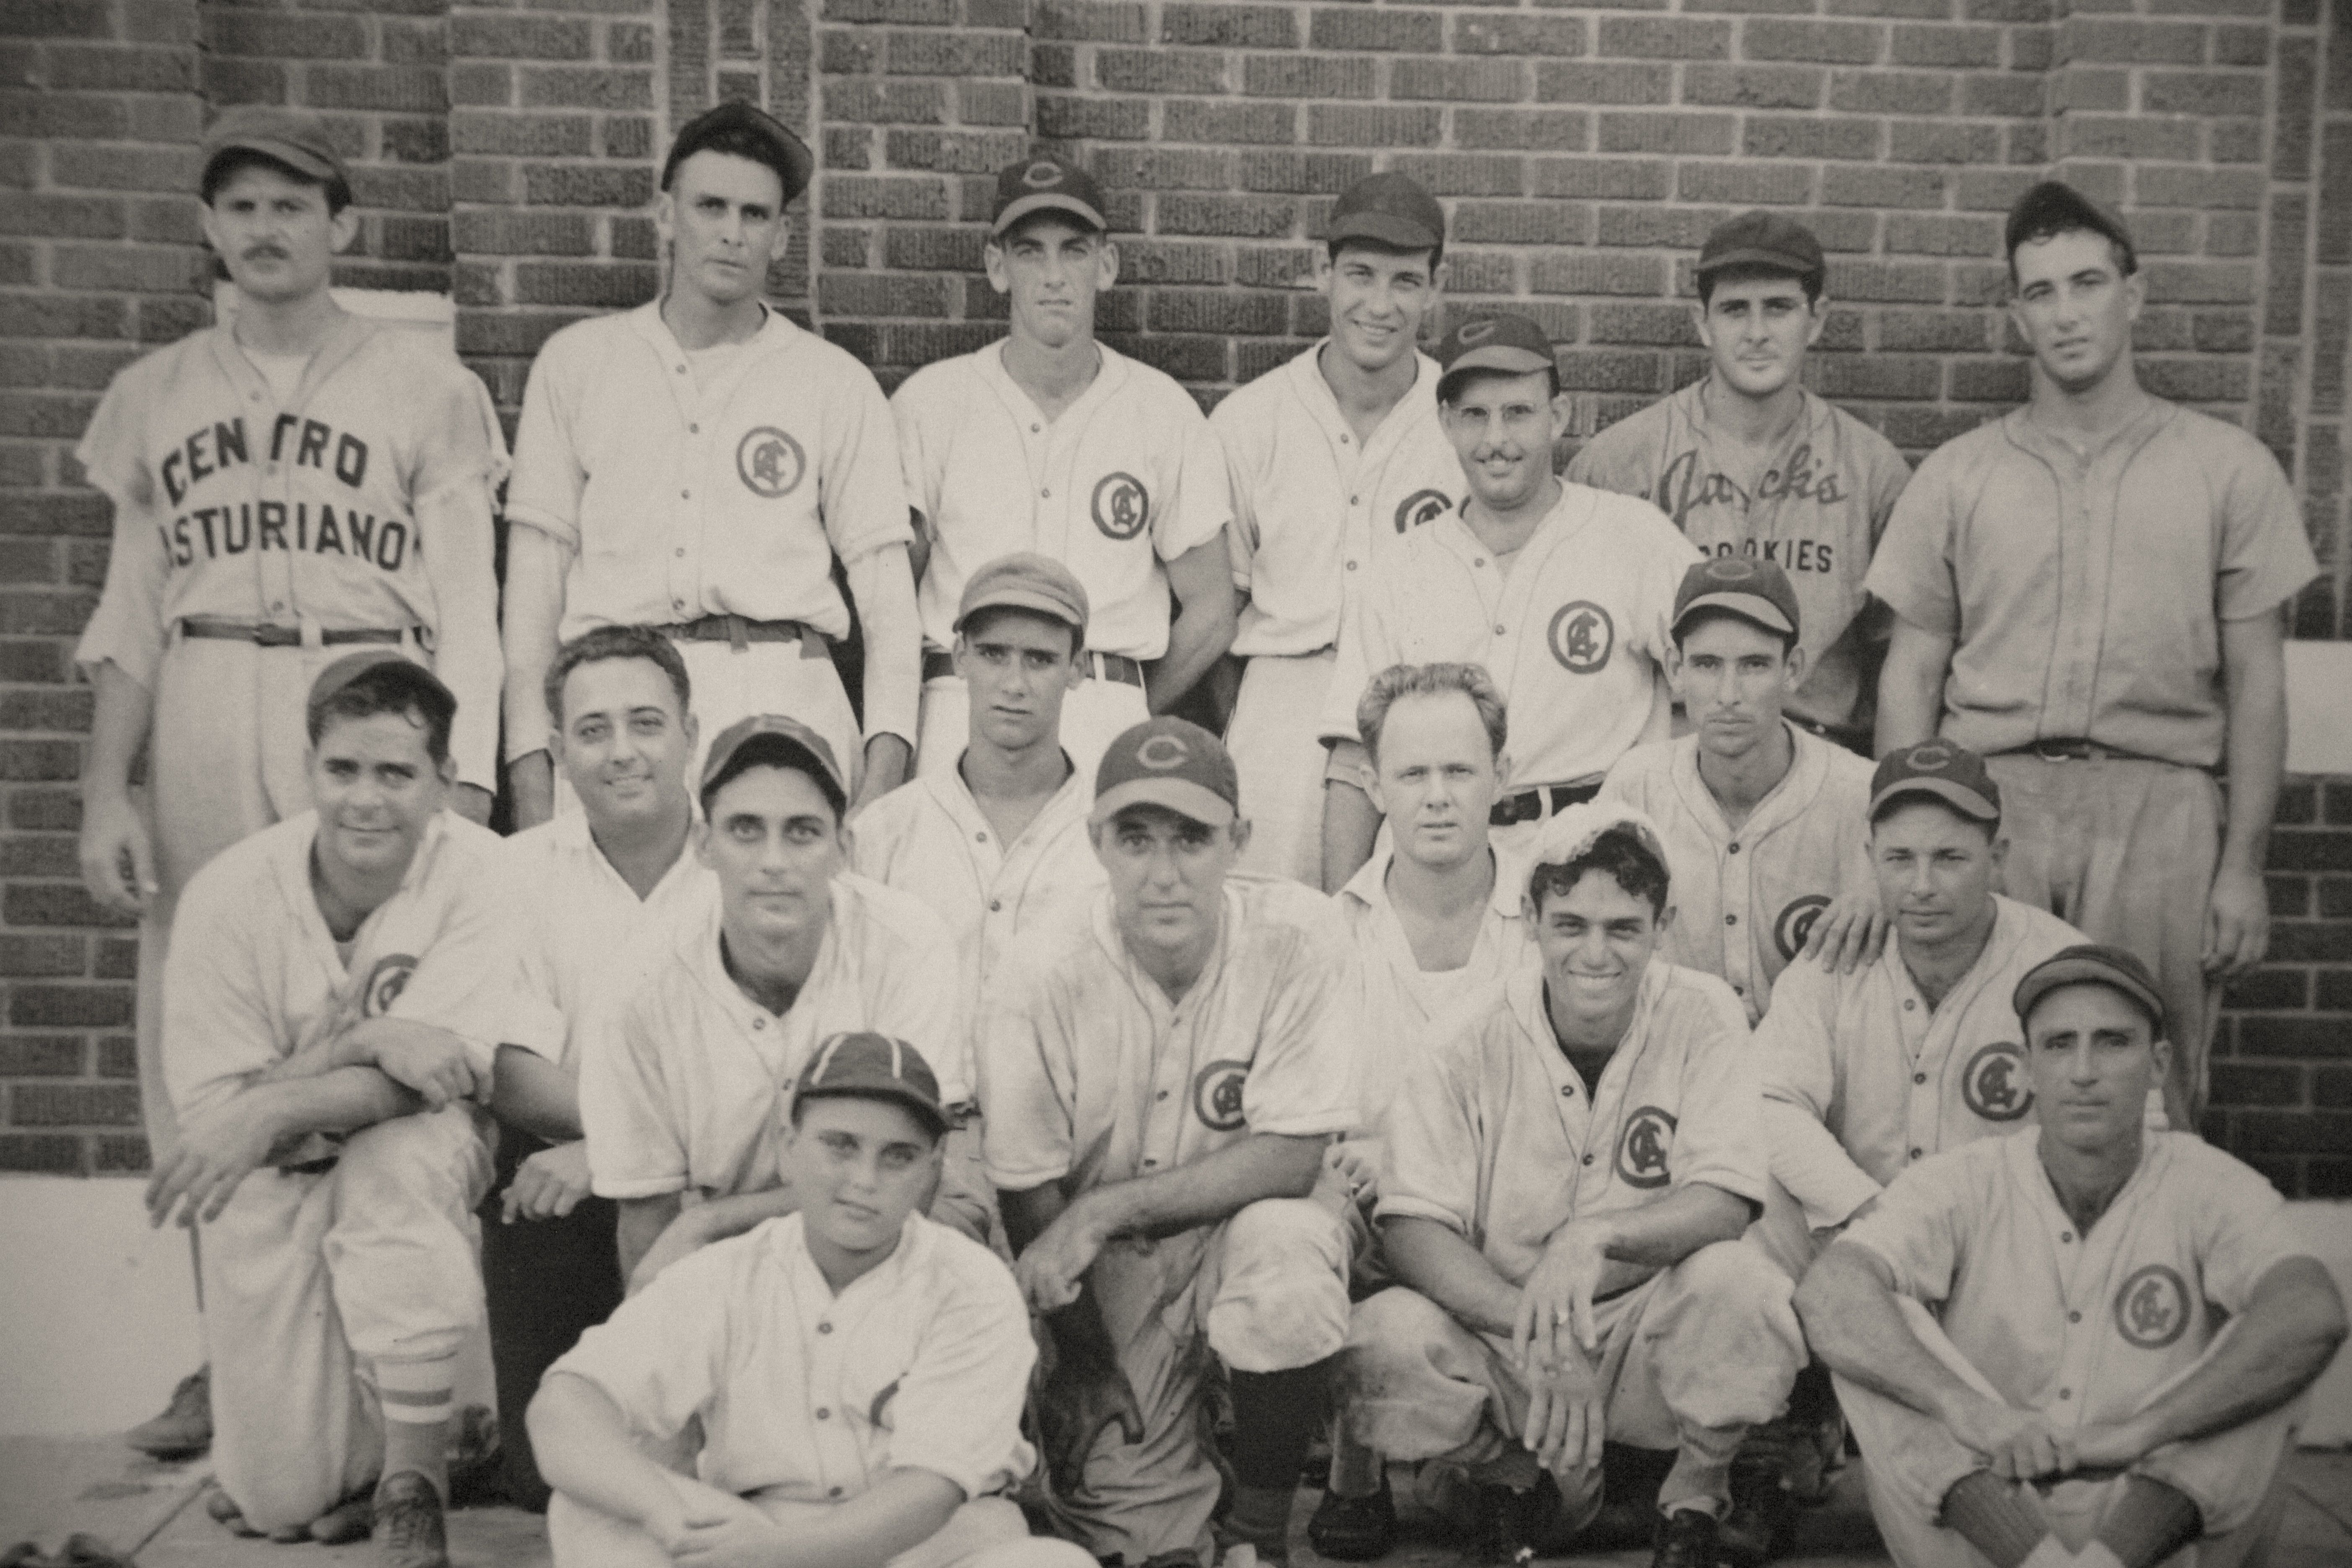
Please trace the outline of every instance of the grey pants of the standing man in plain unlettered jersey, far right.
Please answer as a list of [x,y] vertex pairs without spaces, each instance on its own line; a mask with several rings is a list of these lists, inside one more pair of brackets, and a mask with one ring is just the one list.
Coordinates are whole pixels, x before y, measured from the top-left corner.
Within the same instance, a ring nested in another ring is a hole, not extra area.
[[2220,987],[2206,983],[2206,898],[2220,860],[2220,785],[2138,757],[1987,757],[2009,835],[2006,893],[2157,971],[2173,1041],[2164,1112],[2197,1131]]

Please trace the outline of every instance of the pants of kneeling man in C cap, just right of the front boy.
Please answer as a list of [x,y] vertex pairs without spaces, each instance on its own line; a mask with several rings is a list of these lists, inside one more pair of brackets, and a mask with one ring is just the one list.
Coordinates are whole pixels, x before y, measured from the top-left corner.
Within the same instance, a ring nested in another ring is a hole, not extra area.
[[1216,1561],[1209,1356],[1282,1373],[1315,1366],[1348,1338],[1345,1239],[1324,1187],[1261,1199],[1164,1241],[1122,1239],[1096,1258],[1087,1279],[1143,1410],[1143,1441],[1127,1443],[1112,1425],[1075,1488],[1051,1479],[1047,1507],[1061,1535],[1129,1563],[1183,1549]]

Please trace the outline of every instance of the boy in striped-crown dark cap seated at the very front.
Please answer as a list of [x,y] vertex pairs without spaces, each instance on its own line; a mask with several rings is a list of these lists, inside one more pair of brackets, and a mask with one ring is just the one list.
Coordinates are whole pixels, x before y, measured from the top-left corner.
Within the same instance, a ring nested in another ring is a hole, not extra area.
[[[1037,1345],[1004,1265],[920,1213],[948,1138],[929,1063],[835,1034],[788,1117],[800,1208],[663,1272],[532,1401],[557,1568],[1091,1568],[1002,1495],[1035,1462]],[[691,1425],[694,1476],[647,1455]]]

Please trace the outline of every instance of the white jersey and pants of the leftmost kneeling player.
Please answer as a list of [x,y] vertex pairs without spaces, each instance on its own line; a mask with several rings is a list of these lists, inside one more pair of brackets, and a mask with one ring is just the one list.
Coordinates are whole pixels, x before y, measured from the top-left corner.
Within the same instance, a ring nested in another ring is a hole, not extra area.
[[[489,1079],[506,983],[499,839],[442,811],[400,891],[339,945],[310,891],[315,837],[310,811],[263,827],[183,893],[162,1018],[181,1117],[381,1016],[454,1032]],[[386,1366],[454,1361],[480,1328],[487,1126],[482,1110],[447,1105],[303,1138],[202,1227],[212,1465],[256,1528],[308,1523],[369,1486]]]

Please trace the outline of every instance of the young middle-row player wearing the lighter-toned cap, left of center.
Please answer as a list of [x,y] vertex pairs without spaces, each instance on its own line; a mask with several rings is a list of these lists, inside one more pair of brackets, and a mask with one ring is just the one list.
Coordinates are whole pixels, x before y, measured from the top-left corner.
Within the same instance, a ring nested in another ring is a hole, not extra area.
[[[967,1027],[1016,943],[1103,886],[1087,837],[1091,780],[1061,745],[1084,649],[1087,590],[1068,567],[1018,552],[974,571],[955,611],[955,672],[971,693],[964,755],[858,816],[856,872],[913,893],[955,931]],[[969,1044],[957,1077],[974,1081]]]

